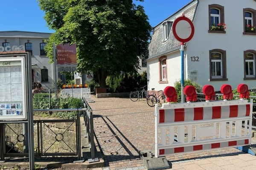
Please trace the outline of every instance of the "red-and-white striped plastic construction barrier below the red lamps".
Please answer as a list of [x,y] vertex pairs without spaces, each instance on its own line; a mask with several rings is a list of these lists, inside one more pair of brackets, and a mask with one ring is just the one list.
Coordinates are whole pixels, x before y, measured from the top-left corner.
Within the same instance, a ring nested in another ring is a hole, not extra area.
[[247,99],[156,106],[155,156],[250,145],[252,108]]

